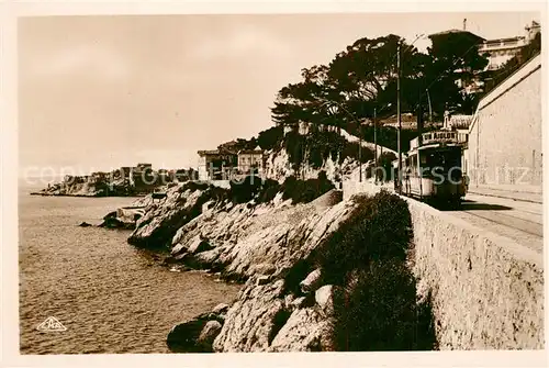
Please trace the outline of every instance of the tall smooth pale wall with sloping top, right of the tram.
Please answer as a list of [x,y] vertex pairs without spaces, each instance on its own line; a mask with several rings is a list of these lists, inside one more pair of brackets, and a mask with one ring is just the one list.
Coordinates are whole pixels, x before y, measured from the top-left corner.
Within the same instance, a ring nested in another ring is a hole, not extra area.
[[469,191],[541,193],[541,55],[488,93],[469,129]]

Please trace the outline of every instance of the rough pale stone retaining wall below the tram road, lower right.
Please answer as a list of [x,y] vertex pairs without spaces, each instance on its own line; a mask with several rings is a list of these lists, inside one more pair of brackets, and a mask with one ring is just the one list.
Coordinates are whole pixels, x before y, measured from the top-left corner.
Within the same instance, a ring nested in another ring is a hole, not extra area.
[[544,348],[542,255],[406,199],[441,349]]

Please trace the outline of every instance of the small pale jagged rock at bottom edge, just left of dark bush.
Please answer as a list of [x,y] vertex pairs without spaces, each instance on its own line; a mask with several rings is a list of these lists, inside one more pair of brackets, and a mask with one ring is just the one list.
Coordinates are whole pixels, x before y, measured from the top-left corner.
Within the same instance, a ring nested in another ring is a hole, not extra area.
[[298,309],[274,336],[269,352],[330,350],[329,321],[315,309]]

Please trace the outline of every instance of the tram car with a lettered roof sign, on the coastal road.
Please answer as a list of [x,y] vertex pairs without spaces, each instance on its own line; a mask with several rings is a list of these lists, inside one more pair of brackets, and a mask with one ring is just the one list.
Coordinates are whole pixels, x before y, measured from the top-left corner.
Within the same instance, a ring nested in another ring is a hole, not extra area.
[[[402,161],[402,194],[433,204],[459,207],[467,192],[461,163],[463,145],[457,132],[424,133],[410,142]],[[399,160],[393,161],[394,187],[399,189]]]

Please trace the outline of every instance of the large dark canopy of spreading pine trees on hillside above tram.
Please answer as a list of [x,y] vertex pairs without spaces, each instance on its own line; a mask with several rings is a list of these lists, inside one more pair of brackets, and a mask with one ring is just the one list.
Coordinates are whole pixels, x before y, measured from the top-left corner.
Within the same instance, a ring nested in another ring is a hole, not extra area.
[[271,109],[274,122],[347,127],[371,120],[374,109],[383,111],[381,116],[396,113],[399,47],[403,113],[429,111],[429,107],[435,115],[446,109],[470,113],[474,100],[456,80],[484,78],[488,58],[478,53],[479,40],[460,32],[430,38],[433,46],[426,54],[394,34],[357,40],[328,65],[304,68],[301,81],[280,89]]

